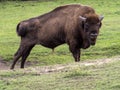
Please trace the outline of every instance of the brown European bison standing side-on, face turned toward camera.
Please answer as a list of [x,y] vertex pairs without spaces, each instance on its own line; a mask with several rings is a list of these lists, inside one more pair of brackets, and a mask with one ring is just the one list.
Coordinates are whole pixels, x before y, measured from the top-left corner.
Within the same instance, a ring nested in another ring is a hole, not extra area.
[[17,25],[21,37],[11,69],[21,57],[21,68],[36,44],[54,49],[67,43],[76,62],[80,61],[80,49],[95,45],[103,16],[89,6],[71,4],[55,8],[44,15],[24,20]]

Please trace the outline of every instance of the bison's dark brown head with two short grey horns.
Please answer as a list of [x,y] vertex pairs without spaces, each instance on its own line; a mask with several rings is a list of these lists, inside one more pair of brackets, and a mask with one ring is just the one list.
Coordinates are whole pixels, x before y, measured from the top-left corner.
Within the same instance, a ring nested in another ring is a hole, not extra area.
[[91,45],[95,45],[99,29],[102,25],[101,21],[103,16],[88,15],[86,17],[80,16],[82,20],[82,27],[84,30],[85,37],[88,39]]

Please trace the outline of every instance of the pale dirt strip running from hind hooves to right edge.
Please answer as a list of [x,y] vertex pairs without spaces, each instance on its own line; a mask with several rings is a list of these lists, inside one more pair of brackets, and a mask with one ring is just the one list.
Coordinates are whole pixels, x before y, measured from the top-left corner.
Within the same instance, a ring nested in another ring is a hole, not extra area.
[[76,68],[79,66],[99,66],[103,64],[113,63],[116,61],[120,61],[119,57],[114,58],[106,58],[106,59],[97,59],[92,61],[85,61],[85,62],[75,62],[72,64],[65,64],[65,65],[54,65],[54,66],[44,66],[44,67],[35,67],[35,68],[29,68],[25,69],[25,72],[36,72],[37,74],[48,74],[52,72],[67,72],[71,68]]

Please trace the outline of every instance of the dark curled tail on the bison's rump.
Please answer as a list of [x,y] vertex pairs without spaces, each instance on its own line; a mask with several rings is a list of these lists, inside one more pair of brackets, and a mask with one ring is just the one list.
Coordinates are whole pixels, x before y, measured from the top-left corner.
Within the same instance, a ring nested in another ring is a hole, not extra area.
[[21,24],[19,23],[17,25],[16,32],[17,32],[18,36],[24,37],[27,33],[27,29],[26,29],[26,27],[21,26]]

